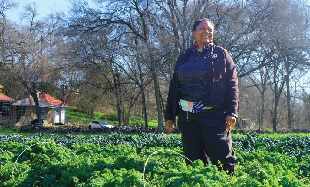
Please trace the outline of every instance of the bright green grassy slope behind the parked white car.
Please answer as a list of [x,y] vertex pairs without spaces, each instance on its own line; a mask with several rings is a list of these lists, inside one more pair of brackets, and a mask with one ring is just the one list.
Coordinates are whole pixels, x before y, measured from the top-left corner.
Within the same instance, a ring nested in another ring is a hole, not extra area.
[[[94,116],[91,119],[89,114],[87,115],[86,113],[83,113],[78,108],[69,108],[69,109],[67,108],[66,119],[69,120],[69,123],[72,125],[79,125],[85,127],[91,120],[106,121],[111,125],[118,125],[118,116],[113,112],[107,112],[107,113],[94,112]],[[123,125],[124,123],[125,121],[123,121]],[[138,124],[141,123],[141,114],[140,115],[132,114],[130,116],[129,124],[133,125],[135,123]],[[144,119],[142,125],[145,125]],[[158,126],[158,120],[148,118],[148,127],[157,127],[157,126]]]

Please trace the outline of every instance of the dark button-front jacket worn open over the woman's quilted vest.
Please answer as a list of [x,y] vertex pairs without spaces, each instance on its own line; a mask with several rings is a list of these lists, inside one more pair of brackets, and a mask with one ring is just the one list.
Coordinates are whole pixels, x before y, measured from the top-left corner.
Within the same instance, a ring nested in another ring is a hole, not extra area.
[[[186,49],[179,56],[175,64],[175,69],[168,92],[165,121],[174,121],[174,117],[178,116],[178,70],[187,60],[191,51],[191,48]],[[211,55],[207,56],[210,53]],[[215,54],[217,57],[214,57]],[[203,66],[204,105],[208,107],[225,109],[227,114],[238,114],[238,79],[232,57],[224,48],[216,45],[210,47],[205,55],[206,58],[203,58],[205,59]]]

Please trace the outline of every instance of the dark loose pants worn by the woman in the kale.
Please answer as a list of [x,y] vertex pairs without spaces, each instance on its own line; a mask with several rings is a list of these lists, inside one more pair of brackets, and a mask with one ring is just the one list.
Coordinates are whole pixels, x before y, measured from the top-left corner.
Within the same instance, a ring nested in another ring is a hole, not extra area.
[[[211,108],[196,114],[179,109],[178,126],[182,134],[185,156],[191,161],[201,159],[207,166],[207,156],[213,165],[223,164],[224,171],[236,171],[236,156],[232,151],[230,130],[226,130],[225,110]],[[188,119],[187,119],[188,116]],[[207,156],[206,156],[207,155]],[[190,161],[185,159],[187,165]],[[222,170],[219,167],[219,171]]]

